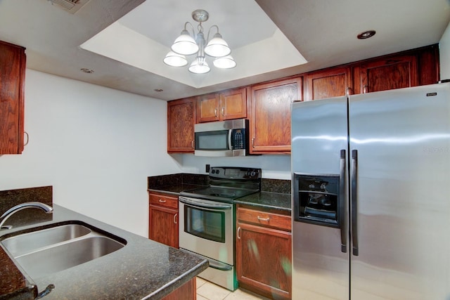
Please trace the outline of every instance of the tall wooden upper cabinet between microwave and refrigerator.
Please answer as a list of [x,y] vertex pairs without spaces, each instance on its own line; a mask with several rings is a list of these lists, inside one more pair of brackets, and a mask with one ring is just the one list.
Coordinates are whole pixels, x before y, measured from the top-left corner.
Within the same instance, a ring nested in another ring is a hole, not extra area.
[[290,104],[302,100],[302,77],[252,86],[250,153],[290,153]]

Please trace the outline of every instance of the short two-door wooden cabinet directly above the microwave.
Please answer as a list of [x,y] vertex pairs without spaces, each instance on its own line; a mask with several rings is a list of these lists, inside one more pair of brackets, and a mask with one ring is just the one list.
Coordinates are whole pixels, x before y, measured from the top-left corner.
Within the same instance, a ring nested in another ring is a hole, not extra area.
[[247,89],[233,89],[198,97],[197,123],[247,118]]

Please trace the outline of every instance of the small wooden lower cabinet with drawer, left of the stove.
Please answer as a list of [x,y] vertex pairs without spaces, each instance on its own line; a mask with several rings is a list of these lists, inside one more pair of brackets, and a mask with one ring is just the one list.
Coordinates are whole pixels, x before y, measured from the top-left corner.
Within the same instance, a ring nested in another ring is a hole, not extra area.
[[148,238],[178,248],[178,197],[149,193],[148,198]]

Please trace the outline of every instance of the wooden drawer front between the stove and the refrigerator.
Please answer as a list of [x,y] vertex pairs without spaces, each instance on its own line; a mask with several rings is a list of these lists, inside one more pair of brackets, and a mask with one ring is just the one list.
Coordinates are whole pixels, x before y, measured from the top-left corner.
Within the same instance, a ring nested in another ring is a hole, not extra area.
[[256,209],[238,207],[237,219],[238,221],[259,224],[286,231],[290,231],[292,228],[290,216],[259,211]]

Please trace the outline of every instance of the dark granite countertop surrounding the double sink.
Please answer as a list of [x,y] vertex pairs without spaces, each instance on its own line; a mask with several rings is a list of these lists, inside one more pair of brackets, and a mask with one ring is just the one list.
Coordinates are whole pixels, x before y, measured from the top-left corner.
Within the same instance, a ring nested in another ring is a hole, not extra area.
[[[17,299],[34,299],[34,296],[37,296],[35,285],[41,292],[50,284],[53,284],[55,288],[44,299],[162,299],[208,266],[205,259],[199,259],[178,249],[148,240],[146,237],[109,226],[56,204],[53,204],[53,208],[51,221],[1,230],[0,240],[3,235],[17,230],[76,220],[122,237],[127,240],[127,244],[122,249],[98,259],[41,278],[29,278],[28,275],[23,276],[16,271],[15,276],[18,276],[18,281],[21,283],[16,286],[18,292],[14,295]],[[26,211],[35,210],[24,209],[17,214],[26,214]],[[11,223],[11,225],[16,224]],[[2,250],[0,251],[1,285],[8,285],[0,287],[3,291],[3,296],[0,295],[2,299],[13,296],[13,294],[5,295],[8,287],[11,288],[13,285],[4,280],[4,276],[11,275],[11,263],[4,263],[8,262],[8,257],[5,257],[4,249],[0,250]],[[48,259],[51,263],[51,257]]]

